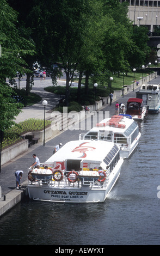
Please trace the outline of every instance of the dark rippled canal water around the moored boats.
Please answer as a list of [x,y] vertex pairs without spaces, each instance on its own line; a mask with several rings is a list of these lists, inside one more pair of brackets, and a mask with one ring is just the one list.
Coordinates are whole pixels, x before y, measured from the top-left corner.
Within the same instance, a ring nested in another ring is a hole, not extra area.
[[139,124],[139,145],[104,203],[21,202],[0,218],[0,245],[159,245],[159,127],[160,114]]

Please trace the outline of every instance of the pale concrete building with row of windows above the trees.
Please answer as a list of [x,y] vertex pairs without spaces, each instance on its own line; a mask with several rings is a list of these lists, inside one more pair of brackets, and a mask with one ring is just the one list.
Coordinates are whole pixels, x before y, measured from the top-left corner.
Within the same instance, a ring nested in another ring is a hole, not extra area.
[[128,17],[134,25],[146,26],[151,36],[160,32],[160,1],[120,0],[120,3],[122,2],[129,3]]

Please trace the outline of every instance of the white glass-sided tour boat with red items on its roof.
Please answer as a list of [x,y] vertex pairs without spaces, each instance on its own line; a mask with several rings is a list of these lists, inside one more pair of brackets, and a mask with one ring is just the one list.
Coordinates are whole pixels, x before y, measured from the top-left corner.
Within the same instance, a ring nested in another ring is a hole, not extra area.
[[128,158],[136,149],[141,133],[131,115],[113,115],[103,119],[87,133],[81,133],[79,139],[94,139],[114,142],[120,148],[120,156]]

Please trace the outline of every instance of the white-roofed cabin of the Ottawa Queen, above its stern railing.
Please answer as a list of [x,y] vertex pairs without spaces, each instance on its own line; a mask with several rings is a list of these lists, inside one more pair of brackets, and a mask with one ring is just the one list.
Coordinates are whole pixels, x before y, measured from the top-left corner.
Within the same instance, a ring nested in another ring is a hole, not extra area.
[[66,173],[90,168],[103,170],[114,168],[119,161],[119,148],[105,141],[71,141],[66,143],[44,165],[52,170],[65,170]]

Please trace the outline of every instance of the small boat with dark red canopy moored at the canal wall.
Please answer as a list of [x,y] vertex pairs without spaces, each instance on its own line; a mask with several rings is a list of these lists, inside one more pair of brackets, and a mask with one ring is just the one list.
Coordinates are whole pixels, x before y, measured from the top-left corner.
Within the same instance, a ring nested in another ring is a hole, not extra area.
[[143,99],[130,98],[127,101],[126,114],[132,115],[132,118],[137,121],[142,121],[147,115],[146,106],[143,105]]

